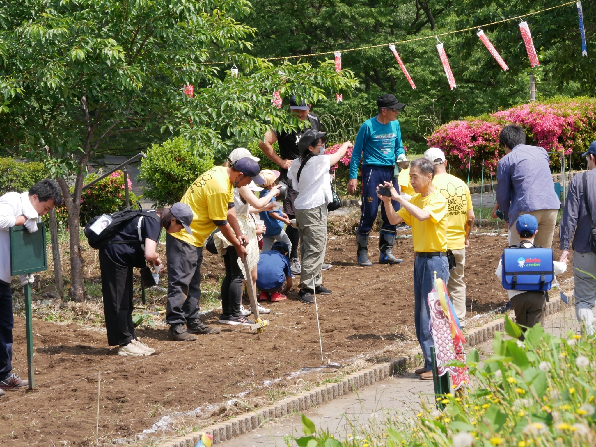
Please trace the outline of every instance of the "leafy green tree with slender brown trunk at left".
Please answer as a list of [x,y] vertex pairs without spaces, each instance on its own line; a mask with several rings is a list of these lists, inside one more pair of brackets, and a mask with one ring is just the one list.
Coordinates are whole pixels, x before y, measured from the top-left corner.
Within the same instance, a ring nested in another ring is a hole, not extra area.
[[[0,10],[0,149],[43,161],[78,228],[86,165],[119,135],[181,132],[199,147],[226,135],[298,125],[272,92],[309,101],[356,85],[333,62],[279,68],[246,50],[247,0],[15,0]],[[240,77],[225,76],[233,61]],[[209,64],[224,62],[226,65]],[[284,83],[285,82],[285,83]],[[194,85],[194,98],[182,86]],[[74,181],[72,196],[67,178]],[[75,300],[85,296],[79,232],[70,231]]]

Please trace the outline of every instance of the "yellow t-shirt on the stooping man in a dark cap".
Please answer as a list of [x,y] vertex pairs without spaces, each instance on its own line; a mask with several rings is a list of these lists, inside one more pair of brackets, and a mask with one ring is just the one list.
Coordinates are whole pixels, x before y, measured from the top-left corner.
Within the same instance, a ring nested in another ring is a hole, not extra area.
[[215,166],[197,178],[184,193],[182,203],[193,210],[193,234],[182,228],[172,236],[195,247],[203,247],[205,240],[216,228],[213,221],[228,218],[228,203],[234,203],[234,187],[229,181],[228,168]]

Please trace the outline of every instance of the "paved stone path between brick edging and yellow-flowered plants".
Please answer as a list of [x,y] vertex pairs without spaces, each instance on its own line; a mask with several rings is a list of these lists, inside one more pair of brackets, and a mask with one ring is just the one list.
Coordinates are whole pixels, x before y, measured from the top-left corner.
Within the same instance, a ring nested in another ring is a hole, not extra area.
[[[554,313],[545,320],[545,330],[565,336],[572,329],[579,333],[572,306]],[[492,353],[492,340],[474,346],[482,356]],[[351,424],[366,424],[371,418],[382,418],[387,410],[402,412],[409,417],[420,408],[420,399],[433,401],[433,381],[420,380],[413,373],[396,375],[358,392],[343,395],[319,408],[306,411],[316,427],[325,427],[337,437],[346,437],[352,433]],[[235,439],[223,442],[225,447],[236,446],[285,446],[284,437],[288,434],[302,435],[300,415],[289,415],[281,420],[271,421],[260,429]]]

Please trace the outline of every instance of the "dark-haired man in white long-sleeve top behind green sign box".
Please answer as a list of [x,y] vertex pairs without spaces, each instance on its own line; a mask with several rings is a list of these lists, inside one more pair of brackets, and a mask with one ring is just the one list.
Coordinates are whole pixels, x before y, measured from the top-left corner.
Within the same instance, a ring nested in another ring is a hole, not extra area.
[[[10,238],[12,226],[24,225],[29,232],[37,231],[40,215],[62,204],[62,192],[53,180],[42,180],[24,193],[6,193],[0,197],[0,396],[4,390],[14,390],[29,385],[12,372],[13,365],[13,294],[10,290]],[[31,275],[33,277],[33,275]],[[19,277],[21,285],[30,280],[29,275]]]

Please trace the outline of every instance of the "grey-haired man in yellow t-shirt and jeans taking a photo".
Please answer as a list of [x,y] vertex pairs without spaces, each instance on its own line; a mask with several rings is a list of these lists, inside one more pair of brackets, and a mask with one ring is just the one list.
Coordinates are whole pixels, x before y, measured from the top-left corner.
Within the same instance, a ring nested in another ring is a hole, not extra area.
[[[405,222],[412,226],[414,243],[414,322],[416,337],[424,355],[424,367],[415,371],[420,378],[432,380],[432,357],[430,347],[433,337],[429,330],[430,309],[427,296],[433,289],[434,272],[437,278],[449,281],[449,261],[447,260],[447,222],[449,219],[447,200],[433,187],[434,167],[427,159],[416,159],[410,163],[410,179],[414,196],[408,201],[399,195],[389,182],[390,196],[379,195],[390,224]],[[391,200],[402,206],[393,210]]]

